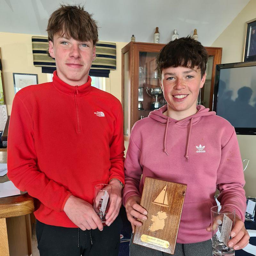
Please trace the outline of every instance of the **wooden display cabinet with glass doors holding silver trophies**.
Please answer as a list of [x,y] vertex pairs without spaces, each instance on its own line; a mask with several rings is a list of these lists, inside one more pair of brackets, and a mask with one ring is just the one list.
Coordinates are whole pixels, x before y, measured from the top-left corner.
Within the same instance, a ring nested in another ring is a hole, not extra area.
[[[122,49],[122,105],[124,137],[129,138],[133,124],[149,112],[166,104],[156,70],[156,57],[165,44],[130,42]],[[207,81],[198,103],[212,109],[215,65],[220,64],[221,48],[206,47],[209,54]]]

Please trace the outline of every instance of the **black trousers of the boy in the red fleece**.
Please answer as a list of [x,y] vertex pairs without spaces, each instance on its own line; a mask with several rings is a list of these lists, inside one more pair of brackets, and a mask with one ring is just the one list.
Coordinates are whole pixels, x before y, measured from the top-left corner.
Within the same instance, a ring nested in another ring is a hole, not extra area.
[[40,256],[118,256],[122,227],[120,215],[103,231],[56,227],[37,220],[37,248]]

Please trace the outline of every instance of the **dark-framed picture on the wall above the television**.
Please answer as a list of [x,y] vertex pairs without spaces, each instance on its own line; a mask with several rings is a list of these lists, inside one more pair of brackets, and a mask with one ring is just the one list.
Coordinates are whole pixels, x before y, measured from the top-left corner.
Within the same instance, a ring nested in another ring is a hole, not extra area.
[[246,22],[243,61],[256,61],[256,19]]

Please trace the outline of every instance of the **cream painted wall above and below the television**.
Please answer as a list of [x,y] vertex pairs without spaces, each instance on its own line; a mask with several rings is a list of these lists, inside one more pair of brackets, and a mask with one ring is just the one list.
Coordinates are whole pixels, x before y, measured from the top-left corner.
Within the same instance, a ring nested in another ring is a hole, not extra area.
[[[245,22],[256,18],[256,1],[251,0],[236,16],[230,25],[212,44],[222,47],[221,63],[241,62],[244,51]],[[256,196],[256,136],[238,135],[238,143],[242,159],[249,158],[250,163],[244,172],[246,195]]]

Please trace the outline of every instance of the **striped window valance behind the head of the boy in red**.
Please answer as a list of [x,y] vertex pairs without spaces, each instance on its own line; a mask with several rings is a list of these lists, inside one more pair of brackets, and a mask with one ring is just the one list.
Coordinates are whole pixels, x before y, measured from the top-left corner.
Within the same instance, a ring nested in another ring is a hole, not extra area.
[[[55,60],[46,53],[49,47],[48,37],[32,36],[33,62],[36,67],[56,67]],[[98,41],[96,44],[96,59],[91,69],[116,69],[116,44]]]

